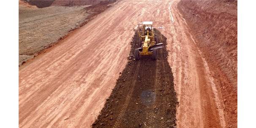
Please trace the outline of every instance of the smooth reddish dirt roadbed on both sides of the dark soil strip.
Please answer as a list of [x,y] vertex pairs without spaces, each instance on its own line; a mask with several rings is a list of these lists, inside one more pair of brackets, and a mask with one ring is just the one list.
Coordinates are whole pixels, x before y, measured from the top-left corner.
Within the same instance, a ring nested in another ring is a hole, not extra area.
[[133,28],[153,21],[167,38],[178,128],[226,126],[202,52],[172,0],[122,0],[19,70],[19,127],[88,128],[125,68]]

